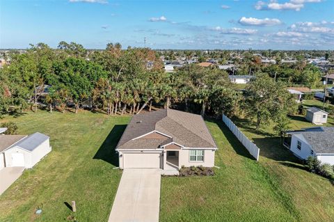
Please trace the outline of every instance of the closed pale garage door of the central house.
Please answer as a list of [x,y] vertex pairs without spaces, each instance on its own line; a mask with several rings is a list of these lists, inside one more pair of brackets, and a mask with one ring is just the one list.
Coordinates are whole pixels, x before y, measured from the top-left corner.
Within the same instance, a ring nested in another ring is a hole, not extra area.
[[160,168],[160,159],[159,153],[125,153],[123,166],[124,168]]

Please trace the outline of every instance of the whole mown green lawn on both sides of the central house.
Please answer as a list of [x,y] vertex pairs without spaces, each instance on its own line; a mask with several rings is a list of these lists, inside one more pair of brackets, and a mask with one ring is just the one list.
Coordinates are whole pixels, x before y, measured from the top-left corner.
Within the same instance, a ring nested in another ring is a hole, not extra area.
[[[66,221],[72,200],[78,221],[106,221],[121,176],[112,150],[129,117],[38,111],[3,120],[17,122],[22,134],[48,134],[53,151],[0,196],[0,221]],[[260,147],[260,162],[221,121],[208,119],[220,168],[213,177],[163,177],[160,221],[333,221],[333,185],[305,171],[270,127],[254,134],[250,122],[237,123]],[[297,117],[292,125],[310,123]]]

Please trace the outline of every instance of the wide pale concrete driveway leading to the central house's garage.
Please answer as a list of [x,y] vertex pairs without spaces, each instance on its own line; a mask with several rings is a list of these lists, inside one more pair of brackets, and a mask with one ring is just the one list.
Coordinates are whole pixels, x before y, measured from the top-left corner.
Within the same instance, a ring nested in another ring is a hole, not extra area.
[[159,169],[125,169],[109,222],[159,221],[160,181]]

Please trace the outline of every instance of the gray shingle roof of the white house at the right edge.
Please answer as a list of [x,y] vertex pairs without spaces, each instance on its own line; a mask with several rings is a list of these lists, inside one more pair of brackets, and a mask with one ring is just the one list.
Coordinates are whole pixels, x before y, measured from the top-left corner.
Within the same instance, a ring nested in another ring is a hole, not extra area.
[[312,150],[316,153],[334,153],[334,127],[315,127],[307,129],[308,132],[301,132],[306,141],[312,146]]

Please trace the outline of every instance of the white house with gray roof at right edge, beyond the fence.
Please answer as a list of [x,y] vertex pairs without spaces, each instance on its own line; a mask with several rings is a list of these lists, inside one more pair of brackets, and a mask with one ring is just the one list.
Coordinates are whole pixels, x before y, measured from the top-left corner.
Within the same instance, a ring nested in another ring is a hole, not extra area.
[[283,145],[297,157],[317,157],[322,163],[334,164],[334,127],[312,127],[285,132]]

